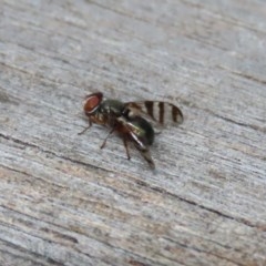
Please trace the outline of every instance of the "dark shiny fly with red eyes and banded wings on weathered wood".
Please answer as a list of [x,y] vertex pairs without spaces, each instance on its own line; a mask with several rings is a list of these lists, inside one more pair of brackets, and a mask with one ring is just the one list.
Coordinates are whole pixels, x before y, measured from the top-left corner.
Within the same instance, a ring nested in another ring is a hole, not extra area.
[[[155,117],[155,113],[153,113],[154,103],[157,103],[158,119]],[[123,139],[127,158],[130,158],[127,142],[131,142],[141,152],[150,166],[154,168],[155,165],[150,154],[150,146],[154,141],[154,130],[144,116],[163,123],[165,106],[171,109],[171,115],[174,122],[178,123],[183,121],[182,112],[173,104],[152,101],[123,103],[117,100],[103,99],[103,94],[96,92],[88,95],[84,104],[84,112],[89,117],[89,126],[85,130],[88,130],[92,123],[108,125],[111,131],[101,145],[101,149],[104,147],[108,137],[113,132],[117,132]]]

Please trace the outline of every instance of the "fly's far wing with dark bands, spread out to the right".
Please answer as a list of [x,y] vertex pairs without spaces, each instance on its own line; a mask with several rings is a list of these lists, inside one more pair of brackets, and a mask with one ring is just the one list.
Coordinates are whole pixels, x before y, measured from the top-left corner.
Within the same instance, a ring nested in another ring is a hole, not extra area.
[[182,111],[172,103],[160,101],[127,102],[125,106],[131,111],[130,115],[143,115],[158,124],[183,122]]

